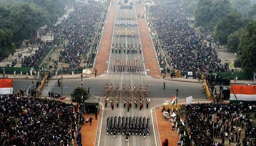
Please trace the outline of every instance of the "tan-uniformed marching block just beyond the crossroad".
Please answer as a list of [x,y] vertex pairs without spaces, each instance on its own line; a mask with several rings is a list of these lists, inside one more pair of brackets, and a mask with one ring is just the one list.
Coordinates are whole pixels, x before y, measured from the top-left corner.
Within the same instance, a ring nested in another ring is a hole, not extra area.
[[140,59],[114,59],[112,70],[115,72],[140,72]]

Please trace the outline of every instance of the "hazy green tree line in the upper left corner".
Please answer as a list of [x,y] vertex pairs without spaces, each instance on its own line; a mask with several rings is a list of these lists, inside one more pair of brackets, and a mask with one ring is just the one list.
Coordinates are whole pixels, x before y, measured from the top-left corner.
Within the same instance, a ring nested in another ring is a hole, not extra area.
[[[0,54],[8,57],[45,24],[51,26],[74,0],[0,0]],[[1,57],[1,56],[0,56]]]

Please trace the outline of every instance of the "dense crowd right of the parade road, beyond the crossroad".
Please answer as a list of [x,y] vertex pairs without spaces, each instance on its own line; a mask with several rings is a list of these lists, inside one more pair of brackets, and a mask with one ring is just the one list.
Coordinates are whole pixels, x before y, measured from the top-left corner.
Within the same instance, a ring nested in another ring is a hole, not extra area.
[[151,22],[167,50],[173,69],[187,72],[207,72],[208,70],[228,70],[228,64],[222,65],[217,59],[217,50],[208,44],[206,31],[189,26],[191,20],[180,5],[164,3],[152,5]]

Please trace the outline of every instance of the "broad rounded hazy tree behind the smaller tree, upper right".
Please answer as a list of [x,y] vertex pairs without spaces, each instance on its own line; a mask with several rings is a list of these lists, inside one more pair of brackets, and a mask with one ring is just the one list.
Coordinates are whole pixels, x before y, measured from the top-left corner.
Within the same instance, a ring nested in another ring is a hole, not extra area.
[[227,37],[232,32],[243,27],[242,15],[240,12],[231,12],[221,20],[219,20],[214,28],[213,37],[221,44],[227,42]]

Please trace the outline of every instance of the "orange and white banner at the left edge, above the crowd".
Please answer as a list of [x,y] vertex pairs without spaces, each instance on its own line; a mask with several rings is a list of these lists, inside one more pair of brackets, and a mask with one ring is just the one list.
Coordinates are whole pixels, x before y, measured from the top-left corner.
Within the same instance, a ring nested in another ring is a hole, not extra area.
[[0,79],[0,95],[13,94],[12,78]]

